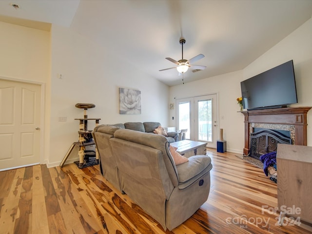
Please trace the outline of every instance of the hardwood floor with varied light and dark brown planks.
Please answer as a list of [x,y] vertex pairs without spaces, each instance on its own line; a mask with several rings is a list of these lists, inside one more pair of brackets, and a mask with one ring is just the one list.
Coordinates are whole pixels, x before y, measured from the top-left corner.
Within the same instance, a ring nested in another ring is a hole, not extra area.
[[171,232],[120,194],[98,166],[80,170],[72,163],[0,172],[0,233],[312,233],[311,226],[293,226],[290,219],[285,220],[288,225],[276,225],[276,184],[262,169],[231,153],[207,149],[207,154],[213,163],[208,200]]

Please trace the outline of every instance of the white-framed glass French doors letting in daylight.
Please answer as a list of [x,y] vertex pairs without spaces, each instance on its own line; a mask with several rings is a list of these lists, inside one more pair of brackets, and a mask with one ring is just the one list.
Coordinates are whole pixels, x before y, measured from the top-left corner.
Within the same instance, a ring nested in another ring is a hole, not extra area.
[[187,129],[185,138],[216,148],[217,95],[177,99],[176,107],[177,129]]

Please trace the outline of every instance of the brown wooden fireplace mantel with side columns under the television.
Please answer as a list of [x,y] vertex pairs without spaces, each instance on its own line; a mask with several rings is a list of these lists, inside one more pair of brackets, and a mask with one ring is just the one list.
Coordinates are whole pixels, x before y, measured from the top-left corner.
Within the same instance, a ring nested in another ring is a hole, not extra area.
[[245,123],[244,155],[249,153],[250,123],[294,125],[295,144],[307,145],[307,113],[311,107],[288,107],[255,111],[242,111]]

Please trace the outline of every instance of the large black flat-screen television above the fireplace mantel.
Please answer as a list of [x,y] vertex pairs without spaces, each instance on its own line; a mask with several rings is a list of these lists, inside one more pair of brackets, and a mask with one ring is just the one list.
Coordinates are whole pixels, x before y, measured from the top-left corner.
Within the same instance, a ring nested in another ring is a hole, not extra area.
[[297,103],[292,60],[240,82],[243,108],[284,108]]

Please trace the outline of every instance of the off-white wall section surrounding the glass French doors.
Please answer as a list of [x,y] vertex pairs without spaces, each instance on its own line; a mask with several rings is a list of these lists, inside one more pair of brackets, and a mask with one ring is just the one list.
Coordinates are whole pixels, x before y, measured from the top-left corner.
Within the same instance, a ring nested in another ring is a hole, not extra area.
[[[240,80],[242,71],[227,73],[220,76],[197,80],[170,87],[170,102],[175,98],[188,98],[206,94],[218,95],[218,130],[223,128],[223,138],[227,141],[227,151],[242,153],[244,140],[237,136],[244,136],[244,115],[240,110],[236,98],[241,97]],[[170,110],[170,124],[176,126],[175,110]],[[175,120],[172,120],[175,117]]]

